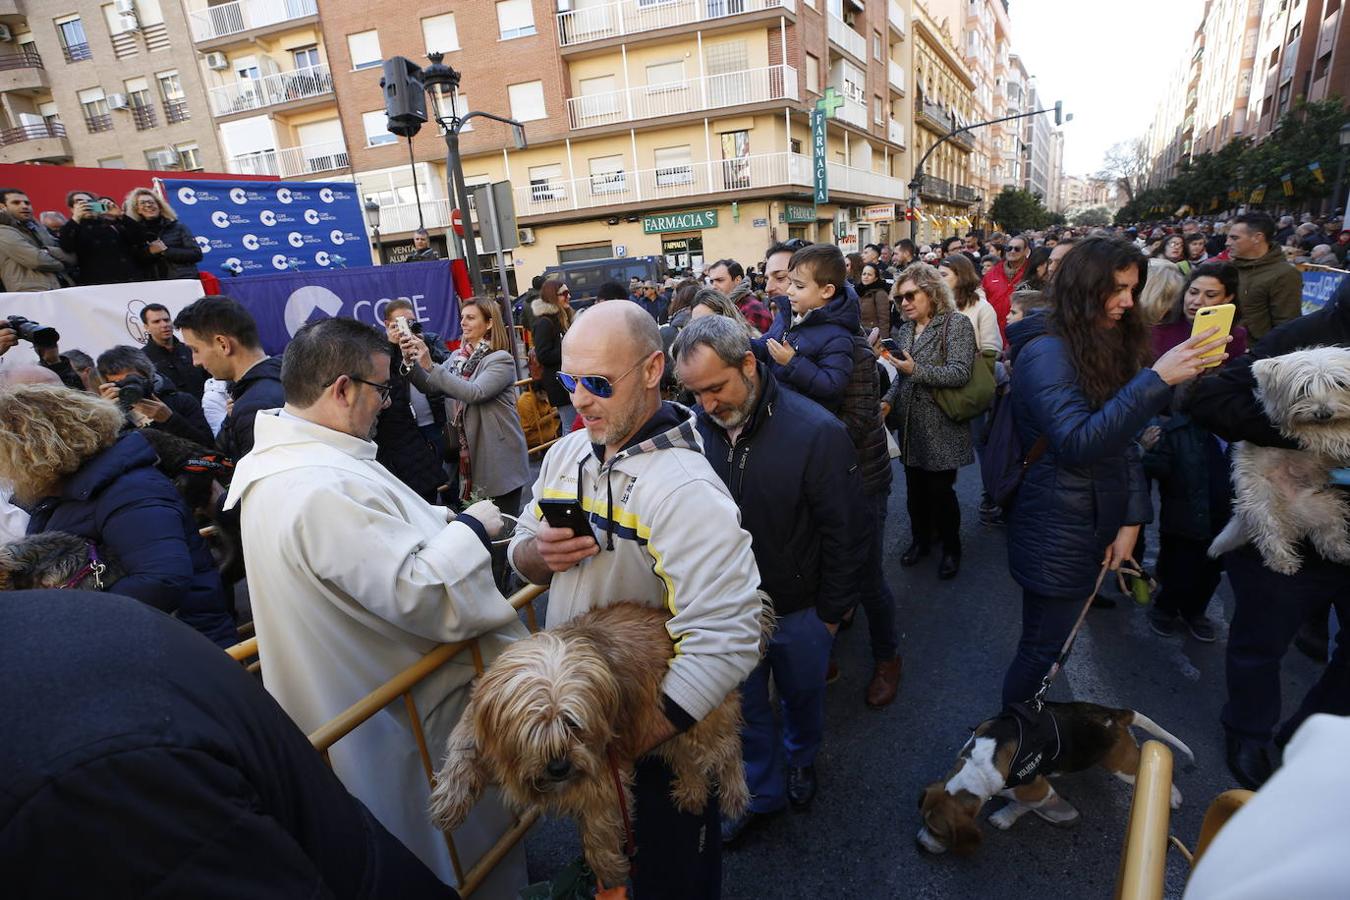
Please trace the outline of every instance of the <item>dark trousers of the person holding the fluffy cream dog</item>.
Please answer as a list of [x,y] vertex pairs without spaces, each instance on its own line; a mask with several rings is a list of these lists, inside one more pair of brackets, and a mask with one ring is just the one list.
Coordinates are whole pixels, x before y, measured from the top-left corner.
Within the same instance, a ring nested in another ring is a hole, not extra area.
[[1314,712],[1350,715],[1350,567],[1328,563],[1304,548],[1297,575],[1272,572],[1261,556],[1243,546],[1223,556],[1233,586],[1233,623],[1228,626],[1228,702],[1223,727],[1249,741],[1269,741],[1280,722],[1280,660],[1303,625],[1304,613],[1331,599],[1341,622],[1336,646],[1322,677],[1303,698],[1293,716],[1280,729],[1288,739]]

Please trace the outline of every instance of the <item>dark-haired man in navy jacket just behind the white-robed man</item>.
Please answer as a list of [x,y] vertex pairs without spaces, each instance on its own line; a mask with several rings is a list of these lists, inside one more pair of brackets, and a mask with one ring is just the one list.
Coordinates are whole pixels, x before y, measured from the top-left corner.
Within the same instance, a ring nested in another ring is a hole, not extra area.
[[281,409],[281,358],[269,356],[258,339],[258,322],[247,309],[221,296],[194,300],[178,312],[174,327],[197,363],[212,378],[230,385],[230,414],[216,444],[232,460],[252,449],[254,418],[265,409]]

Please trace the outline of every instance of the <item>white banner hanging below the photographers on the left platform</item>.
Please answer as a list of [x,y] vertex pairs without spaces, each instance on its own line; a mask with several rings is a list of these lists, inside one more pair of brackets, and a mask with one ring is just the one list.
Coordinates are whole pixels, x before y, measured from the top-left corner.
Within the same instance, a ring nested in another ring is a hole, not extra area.
[[[144,344],[140,309],[163,304],[170,316],[204,296],[201,282],[136,281],[124,285],[90,285],[32,293],[0,293],[0,324],[23,316],[61,332],[61,349],[82,349],[90,358],[117,344]],[[4,355],[7,363],[36,363],[32,344],[20,341]]]

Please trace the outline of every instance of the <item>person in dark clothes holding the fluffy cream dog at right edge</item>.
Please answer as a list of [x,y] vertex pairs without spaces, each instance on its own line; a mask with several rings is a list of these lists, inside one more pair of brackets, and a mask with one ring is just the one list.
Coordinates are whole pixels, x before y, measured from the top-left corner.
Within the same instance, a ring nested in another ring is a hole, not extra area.
[[[1250,355],[1200,379],[1191,401],[1191,416],[1230,443],[1296,448],[1266,418],[1257,401],[1251,363],[1310,347],[1350,347],[1350,278],[1341,282],[1341,289],[1322,310],[1277,327],[1257,343]],[[1342,633],[1322,677],[1304,696],[1297,712],[1276,730],[1280,722],[1280,660],[1299,626],[1328,598],[1339,621],[1350,622],[1350,565],[1323,559],[1307,541],[1300,546],[1300,555],[1303,568],[1296,575],[1272,572],[1250,544],[1223,557],[1237,604],[1228,627],[1228,702],[1222,718],[1227,731],[1228,768],[1239,784],[1251,789],[1270,777],[1272,737],[1277,746],[1284,746],[1314,712],[1350,715],[1350,646]]]

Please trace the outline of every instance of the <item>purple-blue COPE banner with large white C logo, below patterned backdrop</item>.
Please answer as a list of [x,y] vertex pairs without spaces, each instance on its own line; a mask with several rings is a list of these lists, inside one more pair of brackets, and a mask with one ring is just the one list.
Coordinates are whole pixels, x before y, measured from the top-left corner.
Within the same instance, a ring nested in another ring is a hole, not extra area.
[[448,259],[223,278],[220,291],[252,314],[262,348],[273,355],[316,318],[356,318],[382,331],[392,300],[410,302],[425,331],[444,340],[459,337],[459,302]]

